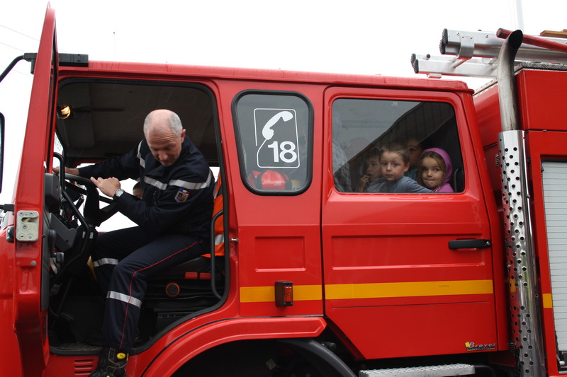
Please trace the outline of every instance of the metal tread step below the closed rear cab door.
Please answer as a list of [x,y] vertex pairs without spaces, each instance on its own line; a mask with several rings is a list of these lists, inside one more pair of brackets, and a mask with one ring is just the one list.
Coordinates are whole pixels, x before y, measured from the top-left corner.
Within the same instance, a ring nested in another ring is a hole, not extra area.
[[466,376],[469,374],[474,374],[474,366],[469,364],[410,366],[408,368],[359,371],[359,377],[446,377]]

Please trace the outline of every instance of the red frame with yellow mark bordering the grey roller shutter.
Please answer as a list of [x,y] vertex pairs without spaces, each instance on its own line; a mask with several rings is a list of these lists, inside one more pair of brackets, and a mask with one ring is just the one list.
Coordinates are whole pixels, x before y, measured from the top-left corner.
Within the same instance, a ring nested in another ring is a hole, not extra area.
[[[555,357],[564,361],[567,351],[565,301],[565,192],[567,178],[565,132],[529,132],[527,146],[531,163],[534,238],[539,260],[539,291],[546,354],[550,376],[560,371]],[[563,171],[563,174],[561,173]],[[553,180],[553,182],[551,182]],[[551,207],[550,207],[551,206]]]

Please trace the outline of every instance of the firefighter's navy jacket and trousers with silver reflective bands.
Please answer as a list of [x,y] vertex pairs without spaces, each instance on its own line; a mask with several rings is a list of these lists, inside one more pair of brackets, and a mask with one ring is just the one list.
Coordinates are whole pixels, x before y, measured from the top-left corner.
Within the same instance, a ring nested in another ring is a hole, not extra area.
[[128,193],[114,197],[118,210],[138,226],[99,235],[92,253],[106,294],[105,345],[132,352],[147,277],[209,251],[213,174],[189,137],[172,166],[162,166],[144,140],[124,156],[80,168],[79,174],[142,182],[142,200]]

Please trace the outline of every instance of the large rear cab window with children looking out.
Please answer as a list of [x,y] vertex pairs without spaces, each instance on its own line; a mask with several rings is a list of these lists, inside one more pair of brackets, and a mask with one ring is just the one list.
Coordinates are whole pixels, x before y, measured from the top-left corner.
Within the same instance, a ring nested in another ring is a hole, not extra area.
[[339,192],[384,192],[379,185],[395,179],[383,175],[386,156],[399,156],[395,161],[403,163],[403,176],[417,181],[419,189],[464,189],[459,134],[449,103],[339,98],[332,105],[332,149]]

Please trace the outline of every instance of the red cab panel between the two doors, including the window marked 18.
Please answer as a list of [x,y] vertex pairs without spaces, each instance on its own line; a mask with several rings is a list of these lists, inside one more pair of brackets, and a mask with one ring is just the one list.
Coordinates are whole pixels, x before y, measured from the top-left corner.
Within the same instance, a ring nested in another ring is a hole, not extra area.
[[[238,240],[233,245],[239,260],[240,315],[322,315],[323,142],[320,113],[312,110],[320,108],[322,90],[297,83],[279,83],[277,90],[264,82],[223,81],[220,86],[221,100],[232,103],[223,127],[226,153],[232,160],[228,179],[237,224]],[[224,105],[228,108],[227,102]],[[282,112],[291,118],[282,119]],[[264,125],[263,113],[274,115],[271,120],[276,122]],[[274,134],[267,140],[260,130],[269,124]],[[261,151],[267,153],[261,156]],[[261,187],[257,174],[265,172],[286,176],[294,188]],[[278,281],[293,284],[293,305],[276,305]]]

